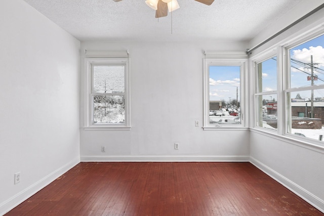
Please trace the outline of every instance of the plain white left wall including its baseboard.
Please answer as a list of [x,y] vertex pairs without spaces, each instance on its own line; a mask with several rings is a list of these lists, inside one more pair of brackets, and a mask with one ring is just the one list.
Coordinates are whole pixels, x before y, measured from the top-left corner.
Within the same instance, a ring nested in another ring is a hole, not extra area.
[[0,29],[2,214],[79,162],[80,43],[21,0],[0,2]]

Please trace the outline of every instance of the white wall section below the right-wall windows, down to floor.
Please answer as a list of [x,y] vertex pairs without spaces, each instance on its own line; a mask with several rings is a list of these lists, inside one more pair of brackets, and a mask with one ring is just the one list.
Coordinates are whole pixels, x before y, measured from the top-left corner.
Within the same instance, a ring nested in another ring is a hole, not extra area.
[[324,149],[251,132],[251,162],[324,212]]

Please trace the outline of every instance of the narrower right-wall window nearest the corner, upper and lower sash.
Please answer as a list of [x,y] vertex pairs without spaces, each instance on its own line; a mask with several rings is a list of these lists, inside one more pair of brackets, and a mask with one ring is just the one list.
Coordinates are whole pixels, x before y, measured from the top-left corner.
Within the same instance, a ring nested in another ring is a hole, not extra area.
[[277,129],[277,58],[271,57],[256,64],[257,90],[256,125]]

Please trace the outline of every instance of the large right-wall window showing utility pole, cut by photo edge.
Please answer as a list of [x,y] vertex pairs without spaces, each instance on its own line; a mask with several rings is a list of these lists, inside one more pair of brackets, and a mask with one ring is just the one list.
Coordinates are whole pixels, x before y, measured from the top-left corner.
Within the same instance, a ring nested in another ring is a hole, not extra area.
[[323,141],[324,35],[288,49],[287,133]]

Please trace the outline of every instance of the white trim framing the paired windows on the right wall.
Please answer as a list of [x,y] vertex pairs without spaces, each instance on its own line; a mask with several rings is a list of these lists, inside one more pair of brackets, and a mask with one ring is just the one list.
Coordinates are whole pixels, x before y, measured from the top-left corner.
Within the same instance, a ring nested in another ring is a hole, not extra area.
[[[278,128],[277,131],[268,130],[266,128],[262,128],[255,125],[255,115],[250,116],[251,121],[251,131],[264,134],[267,136],[273,136],[275,139],[279,139],[285,142],[290,142],[292,144],[305,147],[308,149],[312,149],[314,151],[323,152],[324,145],[323,141],[318,140],[312,140],[308,138],[298,137],[296,135],[292,135],[288,133],[288,124],[287,118],[289,115],[288,111],[288,101],[287,101],[287,93],[289,92],[295,92],[295,91],[306,91],[311,89],[322,89],[322,85],[314,85],[313,87],[301,87],[301,88],[289,88],[289,80],[290,80],[290,59],[289,56],[289,50],[298,46],[299,44],[302,44],[303,42],[310,40],[312,38],[315,38],[317,36],[320,36],[324,33],[322,24],[316,25],[315,27],[309,29],[300,29],[300,32],[295,33],[294,35],[291,35],[285,39],[282,39],[278,42],[276,42],[275,45],[260,51],[256,54],[253,54],[252,57],[249,58],[250,63],[250,71],[253,71],[253,88],[250,87],[250,91],[253,92],[253,96],[256,92],[256,72],[255,72],[255,64],[254,61],[259,61],[262,58],[264,58],[265,55],[268,55],[271,52],[275,52],[277,55],[277,101],[278,101],[278,109],[277,109],[277,117],[278,117]],[[260,49],[260,48],[259,48]],[[261,48],[262,49],[262,48]],[[251,81],[251,80],[250,80]],[[255,97],[253,97],[253,112],[256,112],[256,101]]]

